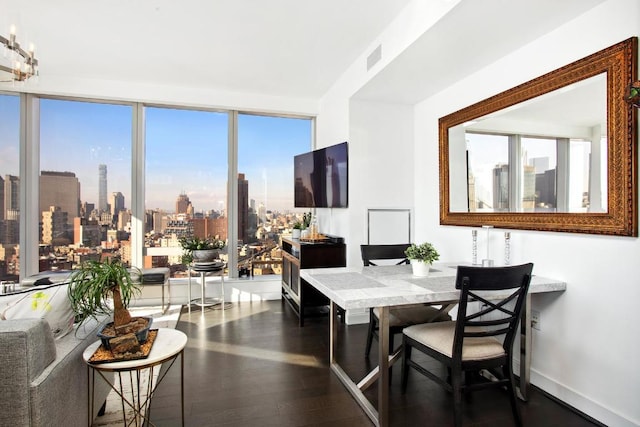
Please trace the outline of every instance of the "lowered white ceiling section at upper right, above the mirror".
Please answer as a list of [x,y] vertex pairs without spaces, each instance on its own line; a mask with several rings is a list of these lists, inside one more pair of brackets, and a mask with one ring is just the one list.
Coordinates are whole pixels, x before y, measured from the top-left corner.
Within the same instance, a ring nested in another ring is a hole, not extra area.
[[463,0],[371,79],[356,97],[415,104],[603,1]]

